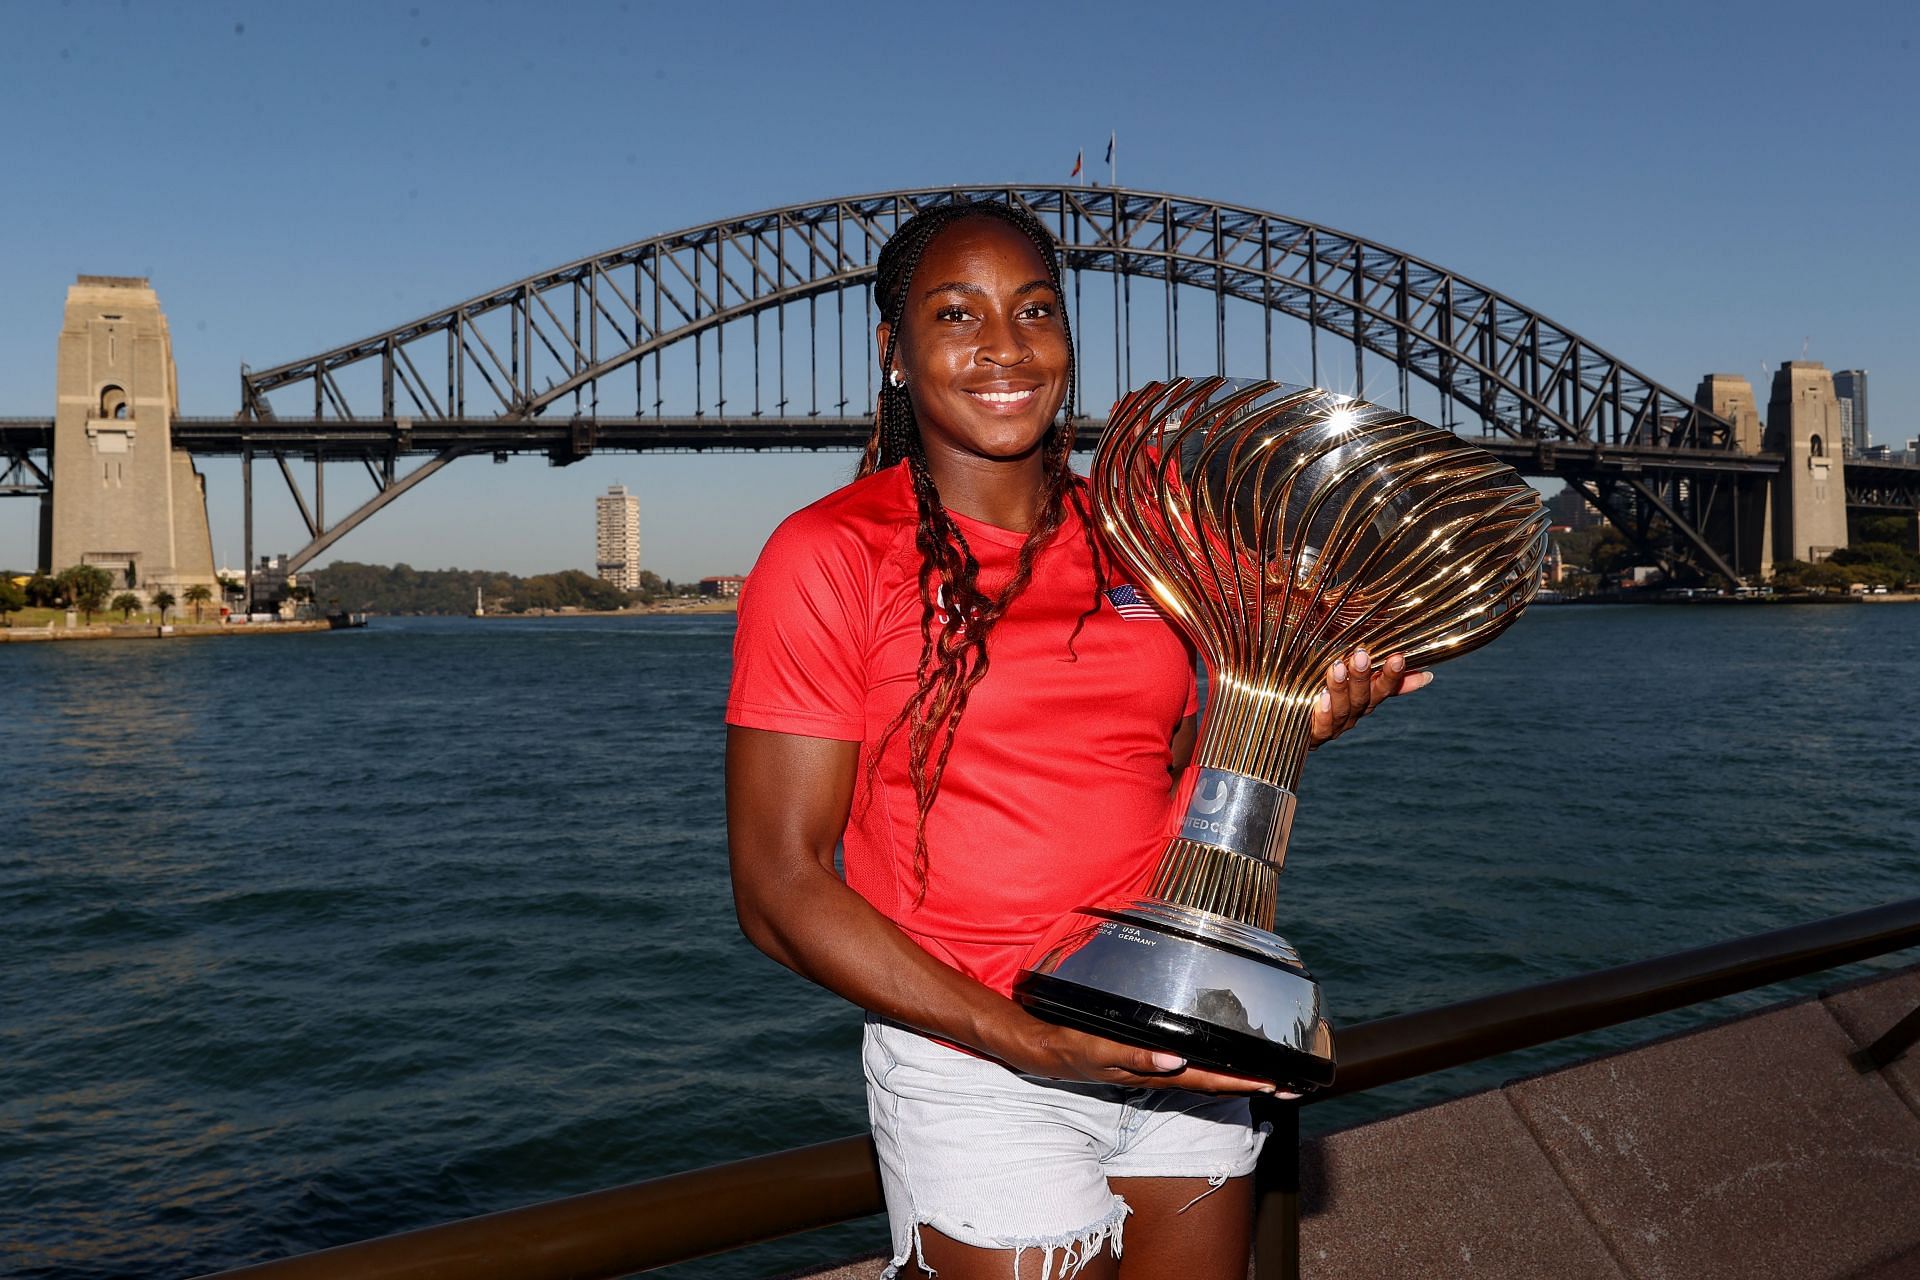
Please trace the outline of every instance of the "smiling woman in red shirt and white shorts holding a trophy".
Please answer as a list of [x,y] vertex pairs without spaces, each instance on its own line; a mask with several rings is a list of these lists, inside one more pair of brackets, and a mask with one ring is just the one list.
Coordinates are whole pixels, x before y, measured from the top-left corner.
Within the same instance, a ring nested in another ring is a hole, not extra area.
[[[889,1276],[1000,1280],[1025,1259],[1043,1278],[1240,1280],[1246,1094],[1273,1086],[1008,998],[1043,929],[1144,885],[1196,706],[1185,641],[1108,595],[1131,583],[1069,468],[1052,242],[1008,205],[939,205],[881,249],[877,297],[860,474],[780,526],[741,597],[741,929],[868,1009]],[[1356,652],[1315,739],[1425,679]]]

